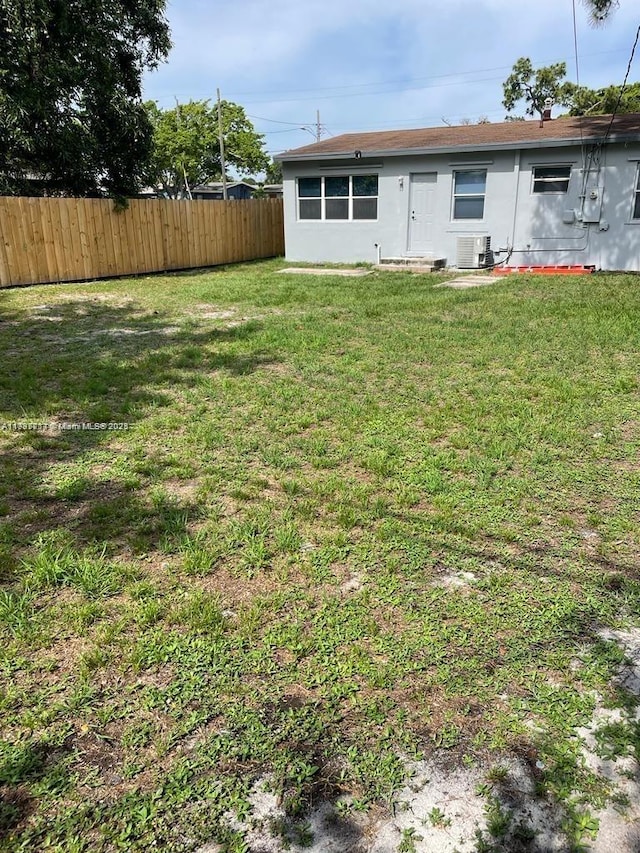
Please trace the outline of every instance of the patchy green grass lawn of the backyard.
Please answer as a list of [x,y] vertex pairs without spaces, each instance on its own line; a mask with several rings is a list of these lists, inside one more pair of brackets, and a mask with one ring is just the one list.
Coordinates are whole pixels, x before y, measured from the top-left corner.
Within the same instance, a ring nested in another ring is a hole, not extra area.
[[282,266],[0,292],[0,849],[239,853],[258,779],[310,843],[422,758],[527,850],[513,756],[586,849],[576,730],[640,758],[640,279]]

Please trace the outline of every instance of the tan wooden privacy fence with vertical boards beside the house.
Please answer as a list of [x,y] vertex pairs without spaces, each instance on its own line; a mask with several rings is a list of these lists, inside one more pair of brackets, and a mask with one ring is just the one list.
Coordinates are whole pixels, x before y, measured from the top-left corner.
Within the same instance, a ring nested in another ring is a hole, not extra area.
[[0,197],[0,287],[81,281],[284,254],[282,199]]

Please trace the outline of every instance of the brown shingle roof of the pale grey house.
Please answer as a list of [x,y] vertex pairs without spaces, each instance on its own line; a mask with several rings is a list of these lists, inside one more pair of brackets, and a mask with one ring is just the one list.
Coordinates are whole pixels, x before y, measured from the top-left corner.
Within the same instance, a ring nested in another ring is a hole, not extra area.
[[383,130],[375,133],[345,133],[322,139],[278,154],[277,160],[333,159],[354,153],[358,156],[387,156],[438,151],[477,151],[500,148],[539,148],[570,145],[586,139],[640,141],[640,113],[616,116],[607,134],[611,116],[557,118],[542,123],[505,121],[496,124],[470,124],[458,127],[425,127],[416,130]]

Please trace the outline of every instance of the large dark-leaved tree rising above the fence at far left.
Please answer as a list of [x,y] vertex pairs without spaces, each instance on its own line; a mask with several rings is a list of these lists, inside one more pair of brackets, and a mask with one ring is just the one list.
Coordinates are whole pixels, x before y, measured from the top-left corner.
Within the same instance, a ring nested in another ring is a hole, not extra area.
[[151,153],[142,74],[165,0],[0,0],[0,192],[133,194]]

